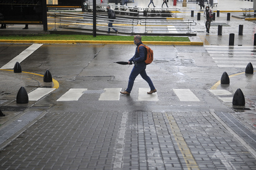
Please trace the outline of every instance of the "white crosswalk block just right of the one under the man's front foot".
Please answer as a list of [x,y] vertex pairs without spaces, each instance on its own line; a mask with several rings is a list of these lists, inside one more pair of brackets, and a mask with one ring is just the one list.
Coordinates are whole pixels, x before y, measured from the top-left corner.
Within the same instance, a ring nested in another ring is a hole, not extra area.
[[196,95],[190,89],[173,89],[180,101],[200,102]]

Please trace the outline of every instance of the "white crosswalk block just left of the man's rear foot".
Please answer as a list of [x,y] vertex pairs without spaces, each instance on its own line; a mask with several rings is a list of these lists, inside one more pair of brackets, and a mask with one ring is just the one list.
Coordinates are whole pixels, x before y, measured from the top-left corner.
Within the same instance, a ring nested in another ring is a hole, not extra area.
[[105,92],[100,94],[99,100],[119,100],[121,88],[106,88]]

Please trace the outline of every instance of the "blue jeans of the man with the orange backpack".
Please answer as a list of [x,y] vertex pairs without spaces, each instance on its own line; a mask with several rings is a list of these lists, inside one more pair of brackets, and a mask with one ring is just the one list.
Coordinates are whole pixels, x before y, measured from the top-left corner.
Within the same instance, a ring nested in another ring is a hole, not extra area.
[[133,87],[133,83],[136,79],[136,77],[141,74],[141,77],[146,80],[150,86],[150,90],[155,90],[155,87],[153,85],[153,82],[151,81],[151,79],[148,77],[146,71],[146,65],[142,65],[142,66],[134,66],[132,68],[132,71],[131,71],[131,74],[130,74],[130,77],[129,77],[129,83],[128,83],[128,87],[126,89],[127,92],[131,92],[132,90],[132,87]]

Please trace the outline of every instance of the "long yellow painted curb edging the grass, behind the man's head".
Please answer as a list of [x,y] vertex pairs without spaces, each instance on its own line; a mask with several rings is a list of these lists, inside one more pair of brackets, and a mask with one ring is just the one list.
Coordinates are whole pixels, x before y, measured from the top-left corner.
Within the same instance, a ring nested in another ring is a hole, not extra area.
[[[94,40],[0,40],[6,43],[90,43],[90,44],[133,44],[133,41],[94,41]],[[143,41],[150,45],[197,45],[203,46],[203,42],[190,41]]]

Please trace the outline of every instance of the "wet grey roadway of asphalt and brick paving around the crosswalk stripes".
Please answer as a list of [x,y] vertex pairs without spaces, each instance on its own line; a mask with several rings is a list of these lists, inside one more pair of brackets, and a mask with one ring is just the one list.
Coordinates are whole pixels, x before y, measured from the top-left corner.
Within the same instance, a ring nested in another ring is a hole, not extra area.
[[[0,67],[29,46],[1,44]],[[135,45],[45,44],[28,56],[21,62],[22,70],[38,74],[49,70],[59,87],[25,104],[38,107],[31,111],[36,110],[34,114],[38,115],[44,111],[45,116],[1,151],[2,168],[254,169],[255,159],[248,152],[248,146],[253,145],[241,144],[221,115],[241,119],[247,129],[254,131],[253,118],[244,121],[253,117],[253,100],[246,98],[245,107],[251,110],[237,111],[209,91],[224,71],[231,75],[245,68],[218,67],[205,46],[150,47],[155,60],[147,66],[147,73],[157,89],[157,102],[139,100],[139,88],[149,91],[140,76],[131,96],[121,95],[119,100],[99,100],[101,94],[94,92],[83,94],[77,101],[57,102],[69,89],[125,90],[132,66],[114,61],[129,60]],[[245,79],[244,74],[237,75],[234,80],[242,81],[218,89],[234,93],[241,85],[251,88],[245,95],[255,96],[254,85],[250,84],[254,78],[246,80],[248,85],[244,85]],[[28,85],[28,92],[35,89]],[[182,101],[175,89],[188,89],[199,100]],[[1,100],[15,100],[15,92],[2,95]]]

